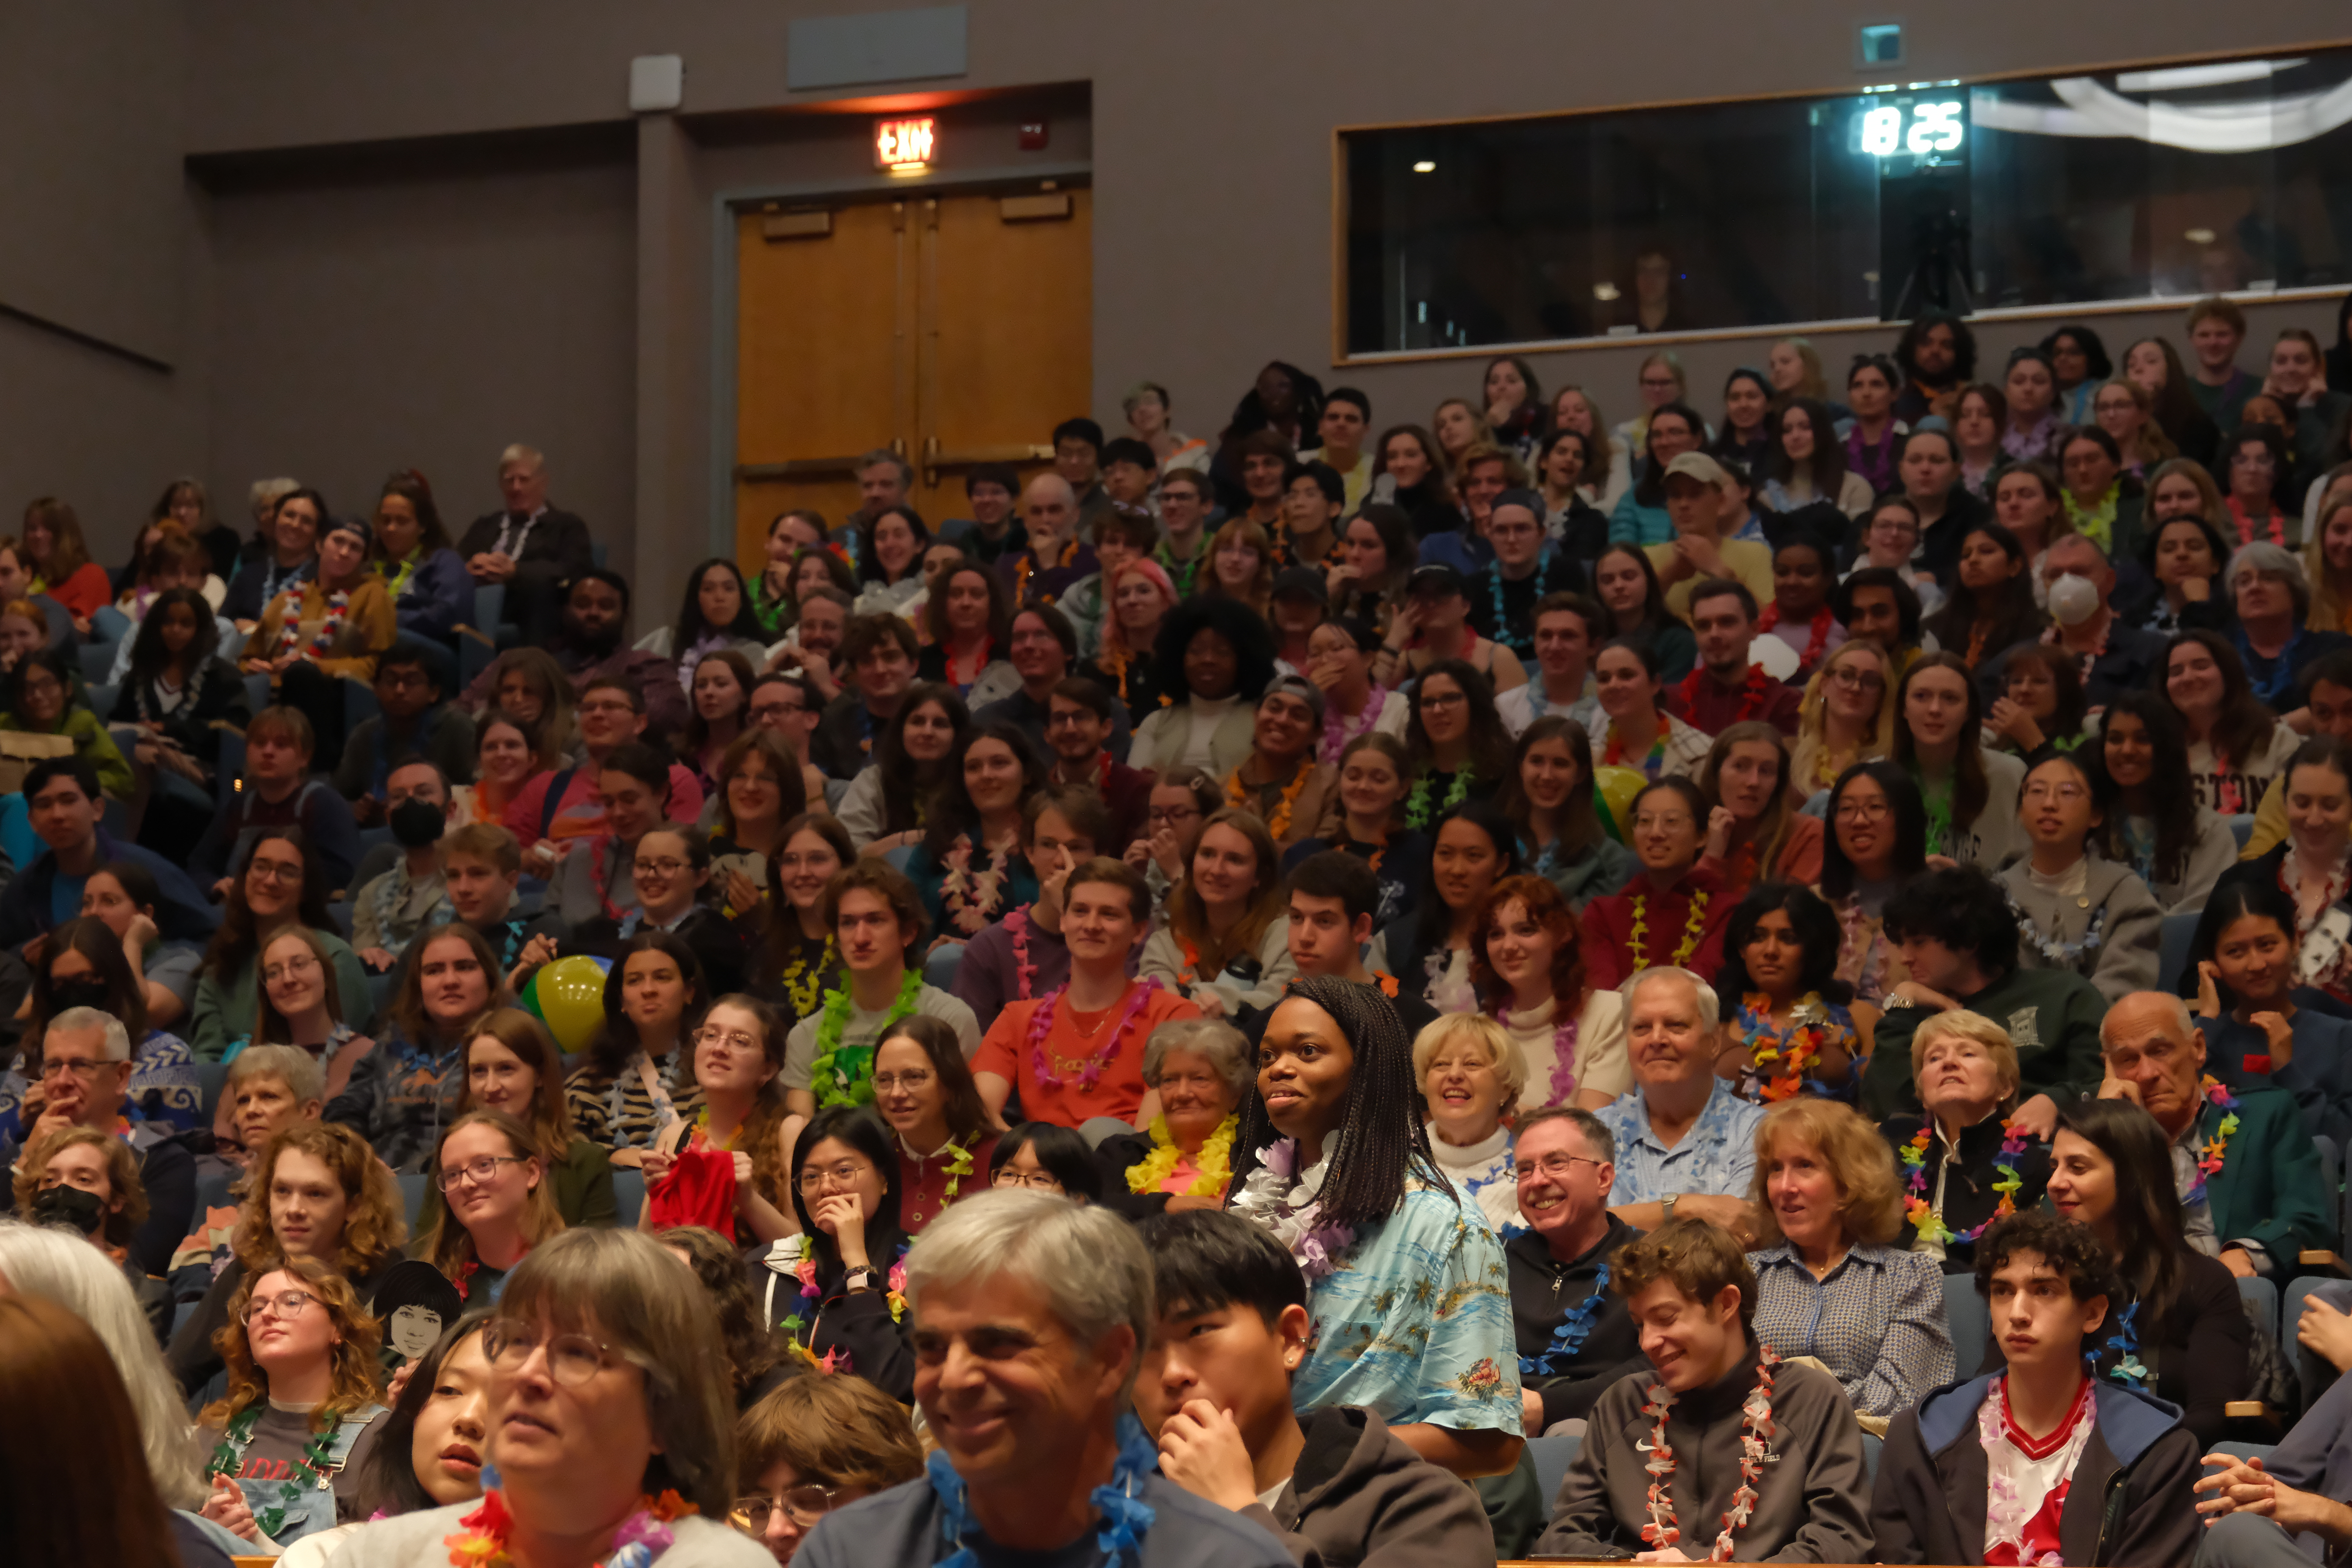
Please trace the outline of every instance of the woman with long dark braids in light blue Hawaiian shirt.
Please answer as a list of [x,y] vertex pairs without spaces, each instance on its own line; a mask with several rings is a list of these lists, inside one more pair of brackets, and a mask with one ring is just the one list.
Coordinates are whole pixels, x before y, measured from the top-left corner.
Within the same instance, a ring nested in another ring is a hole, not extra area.
[[1522,1448],[1503,1244],[1437,1171],[1418,1105],[1388,997],[1291,980],[1258,1044],[1228,1206],[1308,1276],[1298,1408],[1364,1406],[1432,1465],[1498,1476]]

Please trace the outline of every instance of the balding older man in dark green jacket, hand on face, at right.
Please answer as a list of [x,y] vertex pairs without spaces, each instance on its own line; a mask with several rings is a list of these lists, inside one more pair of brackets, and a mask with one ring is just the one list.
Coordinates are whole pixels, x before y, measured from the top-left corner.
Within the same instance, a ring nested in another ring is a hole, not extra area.
[[2098,1025],[2100,1100],[2131,1100],[2164,1128],[2187,1244],[2239,1279],[2286,1281],[2307,1246],[2333,1246],[2319,1154],[2296,1095],[2206,1074],[2204,1030],[2180,997],[2133,992]]

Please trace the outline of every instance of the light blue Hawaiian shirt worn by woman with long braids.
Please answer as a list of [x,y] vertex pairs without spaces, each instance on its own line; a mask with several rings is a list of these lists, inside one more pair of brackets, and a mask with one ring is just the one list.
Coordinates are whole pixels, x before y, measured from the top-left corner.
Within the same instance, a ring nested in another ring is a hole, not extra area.
[[1301,1410],[1364,1406],[1390,1427],[1519,1434],[1519,1352],[1503,1244],[1477,1206],[1409,1182],[1308,1300]]

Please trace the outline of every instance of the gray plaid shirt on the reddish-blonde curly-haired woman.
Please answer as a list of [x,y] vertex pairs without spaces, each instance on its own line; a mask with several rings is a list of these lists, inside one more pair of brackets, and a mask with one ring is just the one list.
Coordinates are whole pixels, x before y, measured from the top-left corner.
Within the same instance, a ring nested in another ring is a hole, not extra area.
[[1748,1253],[1757,1272],[1755,1338],[1783,1356],[1820,1356],[1856,1415],[1893,1415],[1952,1380],[1943,1269],[1926,1253],[1856,1246],[1813,1279],[1783,1241]]

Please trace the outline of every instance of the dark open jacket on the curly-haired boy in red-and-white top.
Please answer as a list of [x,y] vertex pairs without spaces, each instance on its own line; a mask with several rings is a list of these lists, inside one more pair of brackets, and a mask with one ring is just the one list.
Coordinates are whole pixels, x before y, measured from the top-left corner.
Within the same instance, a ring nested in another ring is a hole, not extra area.
[[[1882,1563],[1985,1561],[1985,1446],[1976,1415],[1990,1378],[1936,1389],[1886,1429],[1870,1497]],[[2114,1382],[2093,1382],[2096,1427],[2058,1514],[2067,1563],[2187,1568],[2204,1535],[2190,1486],[2199,1443],[2180,1410]]]

